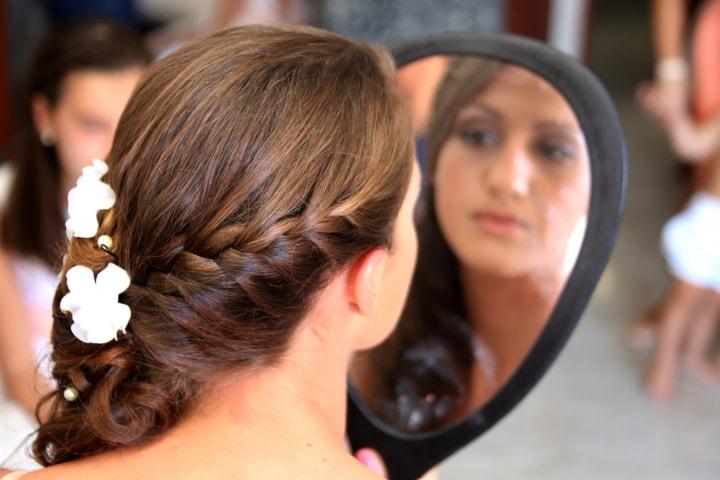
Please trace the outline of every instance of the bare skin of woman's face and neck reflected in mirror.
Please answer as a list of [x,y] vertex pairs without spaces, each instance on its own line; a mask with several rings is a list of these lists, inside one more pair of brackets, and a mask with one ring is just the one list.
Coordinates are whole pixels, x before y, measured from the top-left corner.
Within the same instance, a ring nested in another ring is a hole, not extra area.
[[590,198],[582,130],[550,84],[505,67],[458,112],[432,181],[470,321],[491,359],[471,374],[470,411],[517,369],[566,280],[568,238]]

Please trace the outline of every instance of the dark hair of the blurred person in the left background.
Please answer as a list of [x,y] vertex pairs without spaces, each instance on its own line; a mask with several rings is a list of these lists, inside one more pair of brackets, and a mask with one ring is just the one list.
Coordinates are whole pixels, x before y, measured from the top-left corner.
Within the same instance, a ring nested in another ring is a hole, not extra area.
[[[11,161],[14,179],[0,219],[0,245],[57,267],[64,246],[60,202],[61,167],[55,147],[43,146],[32,120],[31,98],[43,95],[51,107],[62,83],[81,70],[112,72],[150,63],[139,34],[122,24],[89,20],[52,31],[38,47],[26,82]],[[110,92],[108,92],[110,93]]]

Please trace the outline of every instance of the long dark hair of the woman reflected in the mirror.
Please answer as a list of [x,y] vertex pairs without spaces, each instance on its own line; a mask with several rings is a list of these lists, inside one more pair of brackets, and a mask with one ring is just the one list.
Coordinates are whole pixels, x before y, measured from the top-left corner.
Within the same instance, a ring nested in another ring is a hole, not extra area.
[[[425,178],[432,178],[458,112],[489,85],[503,64],[453,58],[433,99]],[[458,260],[440,231],[432,182],[424,186],[417,215],[420,252],[398,327],[367,361],[377,376],[364,392],[370,408],[402,431],[446,426],[466,406],[475,361]],[[361,386],[361,390],[363,390]]]

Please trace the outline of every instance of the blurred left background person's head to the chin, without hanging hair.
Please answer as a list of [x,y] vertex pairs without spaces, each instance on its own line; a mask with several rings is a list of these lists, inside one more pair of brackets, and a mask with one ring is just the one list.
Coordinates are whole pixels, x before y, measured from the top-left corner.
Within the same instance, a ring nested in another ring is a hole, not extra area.
[[150,56],[129,27],[92,21],[51,33],[28,89],[36,133],[71,179],[88,158],[105,158],[125,103]]

